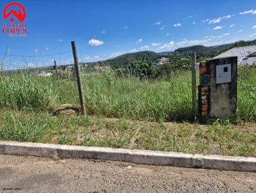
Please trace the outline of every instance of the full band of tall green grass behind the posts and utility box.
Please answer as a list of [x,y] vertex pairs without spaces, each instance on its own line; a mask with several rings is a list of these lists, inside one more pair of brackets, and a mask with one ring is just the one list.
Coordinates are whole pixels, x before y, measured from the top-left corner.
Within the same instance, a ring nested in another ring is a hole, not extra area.
[[[256,68],[239,68],[237,121],[256,121]],[[83,76],[88,114],[147,121],[195,121],[191,111],[191,75],[180,72],[169,81],[117,78],[111,72]],[[79,104],[76,81],[54,77],[1,75],[0,106],[47,110]]]

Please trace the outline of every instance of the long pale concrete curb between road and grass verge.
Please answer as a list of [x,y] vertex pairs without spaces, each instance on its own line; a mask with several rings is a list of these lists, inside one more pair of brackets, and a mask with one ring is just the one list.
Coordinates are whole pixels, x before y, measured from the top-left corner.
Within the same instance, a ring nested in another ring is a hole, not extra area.
[[256,158],[186,153],[125,150],[60,144],[0,141],[0,154],[55,158],[83,158],[150,164],[155,166],[193,167],[256,172]]

